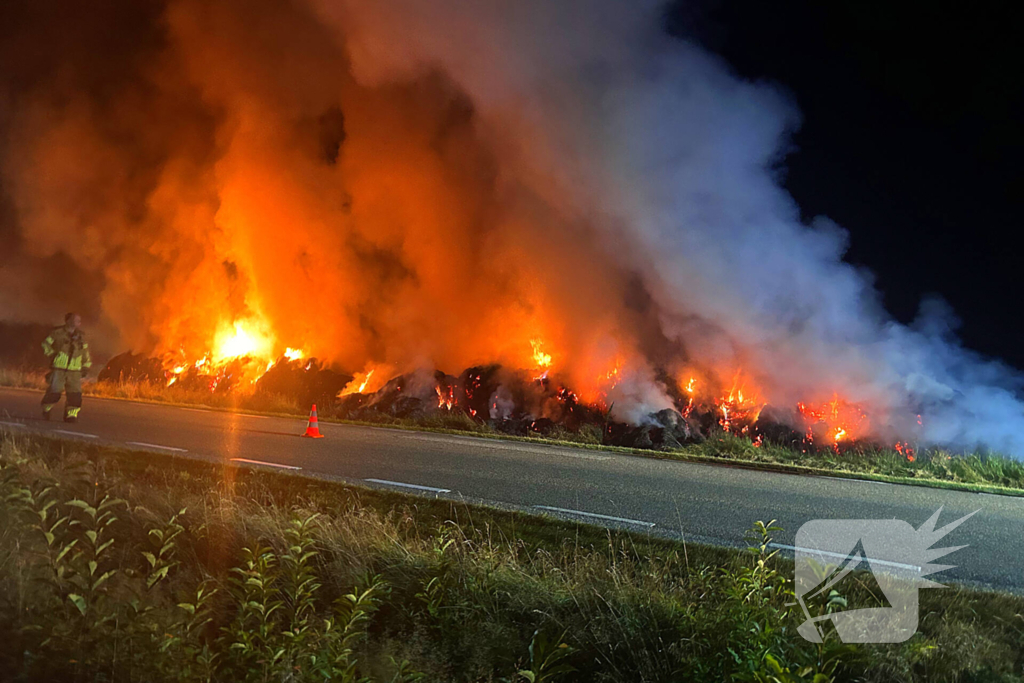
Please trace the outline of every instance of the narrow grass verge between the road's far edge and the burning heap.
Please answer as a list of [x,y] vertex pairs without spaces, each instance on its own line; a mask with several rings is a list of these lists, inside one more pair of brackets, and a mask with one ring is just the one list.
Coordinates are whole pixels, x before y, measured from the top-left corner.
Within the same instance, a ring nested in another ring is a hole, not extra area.
[[[0,386],[38,388],[43,385],[44,382],[41,374],[0,370]],[[308,407],[300,407],[293,400],[280,395],[252,392],[221,394],[194,389],[189,390],[173,385],[164,387],[146,382],[89,382],[86,384],[85,390],[88,395],[106,398],[127,398],[179,405],[203,405],[227,411],[247,411],[270,415],[299,417],[305,416],[306,411],[308,411]],[[841,454],[828,449],[804,453],[799,450],[782,447],[771,443],[755,447],[750,439],[730,434],[718,434],[703,443],[688,445],[678,451],[646,451],[641,449],[603,446],[600,444],[600,430],[596,428],[587,429],[579,433],[560,429],[546,437],[509,436],[498,432],[485,424],[478,423],[462,413],[440,415],[426,420],[401,420],[382,417],[380,420],[374,422],[352,422],[339,420],[331,414],[330,409],[325,410],[322,407],[319,419],[349,422],[352,424],[373,424],[375,426],[401,429],[472,434],[474,436],[489,438],[563,443],[644,456],[705,462],[728,462],[749,467],[765,467],[783,471],[818,472],[865,477],[883,481],[966,488],[968,490],[988,490],[1013,495],[1024,494],[1024,463],[1013,458],[991,453],[963,454],[951,453],[942,449],[923,449],[913,455],[912,460],[893,449],[871,446],[851,449]]]

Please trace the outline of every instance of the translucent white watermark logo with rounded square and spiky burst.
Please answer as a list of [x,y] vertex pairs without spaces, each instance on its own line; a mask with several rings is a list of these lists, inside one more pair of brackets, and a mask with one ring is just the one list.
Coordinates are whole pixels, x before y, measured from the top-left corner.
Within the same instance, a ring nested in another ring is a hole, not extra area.
[[[797,601],[806,617],[797,629],[800,635],[820,643],[830,622],[844,643],[901,643],[912,636],[918,591],[942,587],[925,577],[955,566],[932,560],[967,547],[932,546],[978,511],[936,529],[940,512],[916,529],[901,519],[814,519],[801,526],[793,549]],[[876,594],[888,604],[837,611],[842,604],[837,587],[857,570],[869,572],[861,581],[873,581]]]

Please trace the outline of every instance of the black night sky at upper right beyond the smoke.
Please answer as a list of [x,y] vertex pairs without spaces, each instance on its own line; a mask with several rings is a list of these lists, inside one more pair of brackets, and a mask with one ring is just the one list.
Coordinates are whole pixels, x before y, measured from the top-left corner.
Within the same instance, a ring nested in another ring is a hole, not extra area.
[[901,322],[938,294],[1024,369],[1024,3],[683,0],[670,31],[797,100],[785,184],[851,233]]

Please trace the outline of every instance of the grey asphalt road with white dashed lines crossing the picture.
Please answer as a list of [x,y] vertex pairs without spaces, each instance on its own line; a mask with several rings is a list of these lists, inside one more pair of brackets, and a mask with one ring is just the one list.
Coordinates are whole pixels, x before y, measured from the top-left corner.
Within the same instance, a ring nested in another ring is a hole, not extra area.
[[743,545],[759,519],[777,519],[784,528],[778,543],[793,546],[811,519],[895,518],[919,527],[940,507],[940,525],[978,510],[936,544],[968,547],[936,560],[956,566],[932,579],[1024,593],[1024,498],[330,423],[321,423],[326,438],[307,439],[298,419],[89,397],[82,422],[66,425],[40,418],[40,398],[41,392],[0,388],[0,428],[248,461],[719,545]]

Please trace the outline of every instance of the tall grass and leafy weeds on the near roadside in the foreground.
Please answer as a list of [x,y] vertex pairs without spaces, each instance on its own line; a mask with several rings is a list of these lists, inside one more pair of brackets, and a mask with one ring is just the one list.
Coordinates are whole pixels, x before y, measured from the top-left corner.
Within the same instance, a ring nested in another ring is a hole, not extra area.
[[[903,644],[803,641],[763,525],[742,553],[0,438],[2,680],[1024,680],[1007,595],[925,591]],[[878,604],[857,581],[816,609],[844,600]]]

